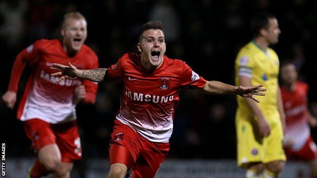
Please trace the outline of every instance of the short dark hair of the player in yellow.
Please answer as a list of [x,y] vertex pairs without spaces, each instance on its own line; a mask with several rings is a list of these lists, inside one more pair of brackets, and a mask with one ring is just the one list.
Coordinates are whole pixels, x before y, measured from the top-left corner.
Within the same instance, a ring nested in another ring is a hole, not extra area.
[[253,16],[251,20],[251,30],[254,37],[260,35],[260,29],[269,28],[269,19],[275,19],[276,17],[271,13],[259,13]]

